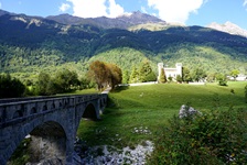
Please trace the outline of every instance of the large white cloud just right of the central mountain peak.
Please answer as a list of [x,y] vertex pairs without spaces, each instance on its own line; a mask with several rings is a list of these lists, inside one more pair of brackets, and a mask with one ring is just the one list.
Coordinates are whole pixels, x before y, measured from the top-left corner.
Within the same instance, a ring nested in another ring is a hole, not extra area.
[[158,10],[158,15],[167,22],[185,24],[191,13],[197,10],[207,0],[148,0],[148,6]]

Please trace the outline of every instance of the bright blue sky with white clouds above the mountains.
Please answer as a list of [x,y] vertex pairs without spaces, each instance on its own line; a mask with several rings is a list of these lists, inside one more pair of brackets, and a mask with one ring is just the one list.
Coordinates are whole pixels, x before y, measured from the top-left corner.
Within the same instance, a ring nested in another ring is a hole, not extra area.
[[167,22],[208,25],[230,21],[247,30],[247,0],[0,0],[0,9],[28,15],[69,13],[82,18],[141,11]]

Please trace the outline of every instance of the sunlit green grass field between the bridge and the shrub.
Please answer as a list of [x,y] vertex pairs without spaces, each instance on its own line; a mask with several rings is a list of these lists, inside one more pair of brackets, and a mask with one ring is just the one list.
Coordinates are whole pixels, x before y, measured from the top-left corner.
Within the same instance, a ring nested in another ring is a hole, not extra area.
[[200,111],[229,107],[246,108],[244,87],[247,82],[194,86],[185,84],[121,87],[109,94],[108,108],[100,121],[80,122],[78,136],[88,145],[135,146],[159,136],[160,127],[190,103]]

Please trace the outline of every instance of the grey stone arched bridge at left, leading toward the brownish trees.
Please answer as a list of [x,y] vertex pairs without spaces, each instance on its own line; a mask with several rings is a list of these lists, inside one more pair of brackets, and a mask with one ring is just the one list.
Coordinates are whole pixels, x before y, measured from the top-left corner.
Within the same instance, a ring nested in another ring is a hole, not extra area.
[[31,135],[32,158],[75,164],[74,141],[82,118],[99,119],[107,94],[0,100],[0,164]]

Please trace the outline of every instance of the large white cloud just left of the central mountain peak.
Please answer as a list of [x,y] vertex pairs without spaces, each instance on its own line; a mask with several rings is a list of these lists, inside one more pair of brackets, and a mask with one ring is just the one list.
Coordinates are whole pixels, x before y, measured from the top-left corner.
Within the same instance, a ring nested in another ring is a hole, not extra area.
[[[115,18],[125,12],[115,0],[67,0],[73,3],[74,15],[82,18],[110,16]],[[109,7],[107,7],[107,3]],[[109,11],[109,12],[107,12]]]

